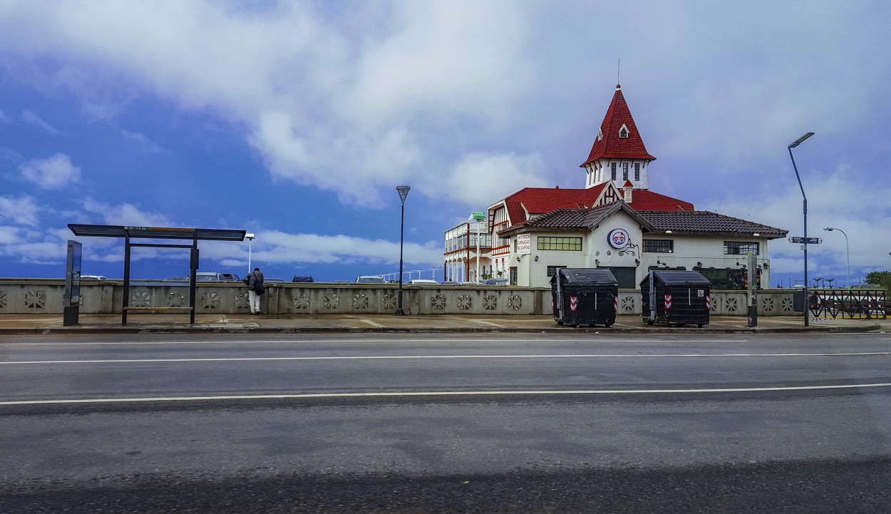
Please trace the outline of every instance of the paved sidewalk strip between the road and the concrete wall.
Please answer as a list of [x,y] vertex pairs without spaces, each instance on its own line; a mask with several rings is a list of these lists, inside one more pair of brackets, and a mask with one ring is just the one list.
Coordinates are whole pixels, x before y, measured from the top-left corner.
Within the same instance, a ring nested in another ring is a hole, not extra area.
[[639,315],[619,315],[610,328],[560,326],[551,316],[395,316],[375,315],[242,315],[130,314],[127,325],[120,314],[81,314],[77,326],[62,326],[61,314],[0,314],[0,335],[40,334],[138,334],[138,333],[325,333],[325,332],[555,332],[555,333],[801,333],[891,332],[891,320],[813,320],[805,328],[802,317],[761,316],[758,326],[748,328],[745,316],[711,316],[699,329],[649,326]]

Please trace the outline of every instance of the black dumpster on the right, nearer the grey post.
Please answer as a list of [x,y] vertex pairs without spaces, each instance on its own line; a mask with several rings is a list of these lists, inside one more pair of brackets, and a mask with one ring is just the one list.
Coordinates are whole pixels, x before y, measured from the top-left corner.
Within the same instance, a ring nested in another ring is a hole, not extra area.
[[708,324],[712,282],[698,272],[651,270],[641,281],[643,322],[667,325]]

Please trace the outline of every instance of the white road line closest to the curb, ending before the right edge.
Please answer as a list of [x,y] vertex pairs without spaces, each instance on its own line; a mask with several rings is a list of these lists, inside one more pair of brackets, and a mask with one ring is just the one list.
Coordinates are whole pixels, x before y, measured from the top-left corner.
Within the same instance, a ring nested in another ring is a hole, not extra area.
[[54,342],[54,343],[0,343],[0,347],[85,347],[85,346],[137,346],[137,345],[257,345],[257,344],[294,344],[294,343],[563,343],[591,342],[609,343],[748,343],[748,339],[589,339],[579,341],[576,338],[551,339],[269,339],[269,340],[217,340],[217,341],[86,341],[86,342]]

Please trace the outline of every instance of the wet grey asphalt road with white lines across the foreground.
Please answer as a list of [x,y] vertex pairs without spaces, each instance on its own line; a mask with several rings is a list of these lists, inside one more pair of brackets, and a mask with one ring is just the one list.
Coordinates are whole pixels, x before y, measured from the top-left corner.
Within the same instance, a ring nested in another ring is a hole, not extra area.
[[7,337],[0,511],[886,512],[889,343]]

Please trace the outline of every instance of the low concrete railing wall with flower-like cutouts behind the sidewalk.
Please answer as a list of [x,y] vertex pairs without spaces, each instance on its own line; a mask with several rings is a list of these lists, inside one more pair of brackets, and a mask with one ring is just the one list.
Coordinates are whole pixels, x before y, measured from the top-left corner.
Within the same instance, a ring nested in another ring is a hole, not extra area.
[[[65,282],[48,279],[0,279],[0,314],[62,314]],[[120,314],[122,281],[81,284],[81,314]],[[712,314],[747,313],[745,291],[712,291]],[[759,290],[759,315],[794,315],[792,290]],[[273,282],[261,297],[265,314],[394,314],[394,284]],[[130,285],[130,306],[188,306],[189,288],[176,282],[140,281]],[[241,282],[203,283],[195,297],[197,314],[249,312],[248,290]],[[551,314],[551,290],[515,287],[403,287],[406,314]],[[641,314],[639,290],[619,290],[618,314]]]

